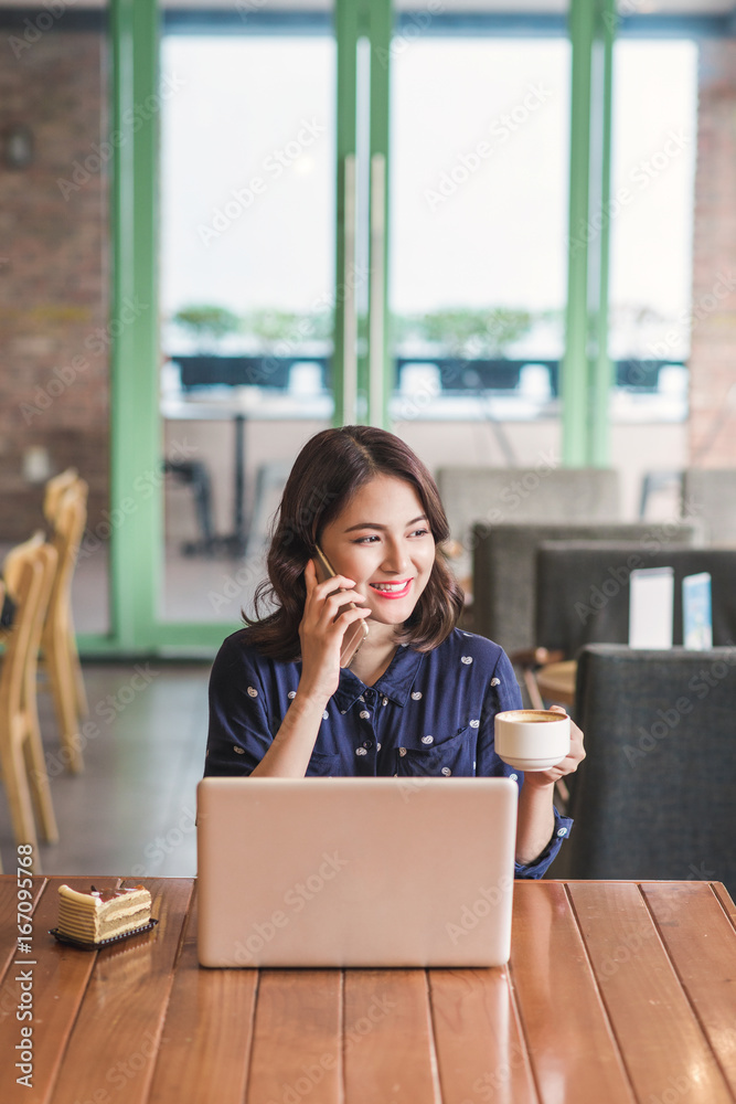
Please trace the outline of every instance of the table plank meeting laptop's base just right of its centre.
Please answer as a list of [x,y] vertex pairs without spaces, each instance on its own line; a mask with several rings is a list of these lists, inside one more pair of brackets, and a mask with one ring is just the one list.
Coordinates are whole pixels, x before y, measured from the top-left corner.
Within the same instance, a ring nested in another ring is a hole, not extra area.
[[351,969],[344,984],[345,1101],[436,1104],[440,1097],[426,973]]

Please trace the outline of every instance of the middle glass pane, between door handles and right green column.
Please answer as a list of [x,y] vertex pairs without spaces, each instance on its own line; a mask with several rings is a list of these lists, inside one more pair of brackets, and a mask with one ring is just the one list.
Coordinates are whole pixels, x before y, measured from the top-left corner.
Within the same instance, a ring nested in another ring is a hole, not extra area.
[[569,44],[412,39],[392,51],[397,432],[433,468],[556,463]]

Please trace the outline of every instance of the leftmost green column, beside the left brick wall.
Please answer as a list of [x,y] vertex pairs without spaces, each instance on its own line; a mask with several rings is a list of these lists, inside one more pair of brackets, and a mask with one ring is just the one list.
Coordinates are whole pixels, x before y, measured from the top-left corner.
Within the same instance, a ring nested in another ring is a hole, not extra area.
[[110,0],[113,291],[110,617],[113,643],[141,650],[160,594],[158,408],[159,17],[156,0]]

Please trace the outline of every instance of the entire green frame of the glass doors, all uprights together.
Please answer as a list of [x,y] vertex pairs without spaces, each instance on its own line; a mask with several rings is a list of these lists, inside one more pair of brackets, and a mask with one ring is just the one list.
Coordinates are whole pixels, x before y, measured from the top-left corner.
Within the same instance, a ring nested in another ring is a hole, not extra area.
[[[232,623],[167,623],[157,616],[163,571],[160,493],[162,433],[159,417],[158,187],[159,35],[158,0],[110,0],[113,318],[126,300],[147,310],[121,328],[110,364],[110,624],[107,635],[81,635],[84,655],[212,655],[233,631]],[[344,405],[344,161],[355,146],[355,54],[358,39],[390,54],[394,12],[391,0],[335,0],[338,41],[338,277],[335,287],[335,420]],[[611,59],[617,28],[615,0],[570,0],[573,108],[570,118],[569,237],[606,210],[610,171]],[[371,155],[388,168],[387,65],[372,66]],[[386,190],[387,191],[387,190]],[[383,198],[383,219],[387,202]],[[371,316],[386,310],[384,279],[372,288]],[[608,393],[611,365],[606,346],[608,226],[582,248],[570,248],[566,351],[562,367],[563,456],[569,466],[605,465],[608,459]],[[382,299],[383,301],[378,301]],[[387,425],[388,335],[369,363],[359,360],[358,388],[367,396],[363,418]],[[375,384],[376,373],[381,376]],[[371,376],[374,376],[372,380]]]

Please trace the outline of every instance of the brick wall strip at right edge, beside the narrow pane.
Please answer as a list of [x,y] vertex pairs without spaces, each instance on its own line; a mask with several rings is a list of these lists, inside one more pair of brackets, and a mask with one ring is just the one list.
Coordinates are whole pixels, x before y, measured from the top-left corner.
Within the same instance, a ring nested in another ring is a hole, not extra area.
[[695,229],[690,457],[736,466],[736,42],[704,41]]

